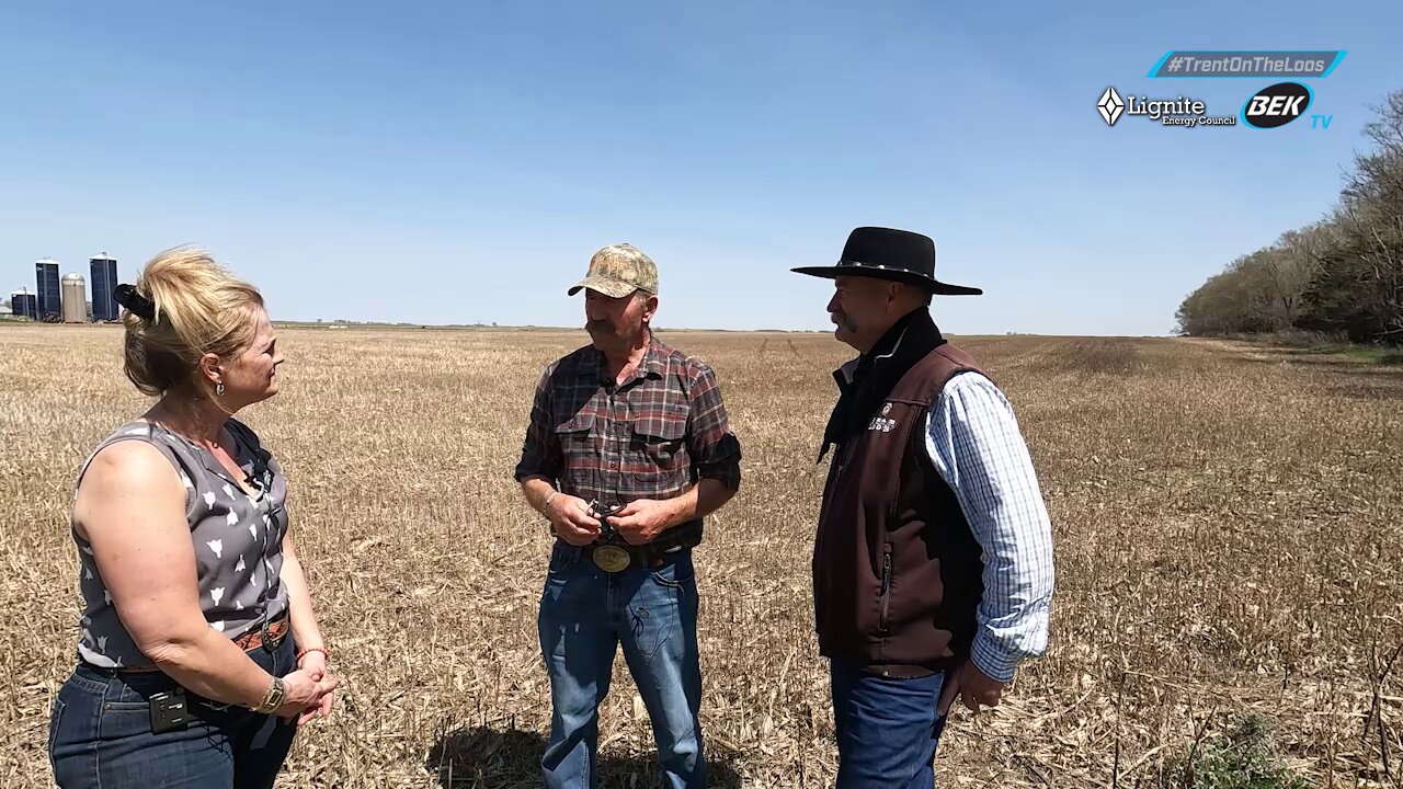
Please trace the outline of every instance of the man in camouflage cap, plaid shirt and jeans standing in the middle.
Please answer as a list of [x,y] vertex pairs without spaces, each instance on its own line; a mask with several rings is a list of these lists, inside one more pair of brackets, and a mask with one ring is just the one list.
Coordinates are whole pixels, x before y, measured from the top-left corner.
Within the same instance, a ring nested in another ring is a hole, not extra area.
[[553,716],[549,788],[595,786],[615,653],[652,719],[665,783],[706,786],[692,548],[741,484],[711,368],[652,336],[658,270],[630,244],[584,281],[592,344],[546,368],[516,480],[556,535],[540,601]]

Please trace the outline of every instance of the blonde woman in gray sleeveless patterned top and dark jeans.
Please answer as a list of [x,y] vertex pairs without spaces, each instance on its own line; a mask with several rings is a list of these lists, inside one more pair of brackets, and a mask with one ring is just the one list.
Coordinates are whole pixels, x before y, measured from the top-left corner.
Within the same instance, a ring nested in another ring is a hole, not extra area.
[[53,703],[62,788],[264,788],[337,679],[288,535],[286,480],[240,409],[278,393],[262,296],[201,250],[156,256],[126,307],[123,368],[154,406],[76,483],[84,611]]

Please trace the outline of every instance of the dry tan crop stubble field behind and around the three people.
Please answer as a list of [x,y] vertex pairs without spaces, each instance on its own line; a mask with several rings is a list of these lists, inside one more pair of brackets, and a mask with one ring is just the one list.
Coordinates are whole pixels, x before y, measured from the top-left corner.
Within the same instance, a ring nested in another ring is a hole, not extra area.
[[[340,712],[286,786],[532,786],[549,723],[535,630],[550,538],[511,479],[540,365],[582,333],[293,330],[283,394],[247,418],[282,459]],[[717,369],[746,459],[699,550],[716,785],[833,775],[808,552],[832,404],[829,337],[672,334]],[[84,452],[145,400],[119,334],[0,327],[0,783],[49,785],[73,661],[66,532]],[[1205,724],[1257,710],[1320,785],[1399,785],[1403,375],[1226,343],[962,343],[1005,386],[1055,522],[1049,654],[960,715],[944,785],[1129,786]],[[616,664],[607,786],[652,783]],[[1388,750],[1385,774],[1383,751]]]

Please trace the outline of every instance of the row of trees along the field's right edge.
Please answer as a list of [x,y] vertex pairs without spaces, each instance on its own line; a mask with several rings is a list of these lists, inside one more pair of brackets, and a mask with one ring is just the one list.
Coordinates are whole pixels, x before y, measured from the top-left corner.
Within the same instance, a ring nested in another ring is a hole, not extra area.
[[1200,285],[1174,314],[1179,334],[1305,330],[1403,345],[1403,90],[1374,110],[1372,147],[1334,208]]

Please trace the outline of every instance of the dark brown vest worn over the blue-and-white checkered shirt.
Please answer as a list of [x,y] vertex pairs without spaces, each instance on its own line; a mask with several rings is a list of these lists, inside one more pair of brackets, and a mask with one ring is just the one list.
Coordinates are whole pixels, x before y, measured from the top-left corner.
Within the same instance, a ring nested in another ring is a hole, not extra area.
[[819,653],[890,677],[969,654],[984,594],[979,543],[927,459],[926,416],[955,373],[984,373],[943,344],[833,453],[814,543]]

